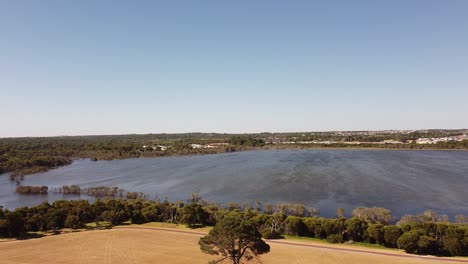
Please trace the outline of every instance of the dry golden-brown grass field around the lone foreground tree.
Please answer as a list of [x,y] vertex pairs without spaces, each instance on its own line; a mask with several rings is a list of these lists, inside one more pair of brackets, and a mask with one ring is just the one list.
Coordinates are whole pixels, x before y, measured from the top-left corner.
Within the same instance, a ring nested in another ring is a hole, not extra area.
[[[138,264],[138,263],[193,263],[206,264],[211,256],[200,252],[199,234],[206,230],[187,230],[183,227],[144,225],[141,227],[122,227],[110,230],[75,232],[39,239],[8,241],[0,243],[0,263],[90,263],[90,264]],[[284,241],[284,240],[283,240]],[[309,248],[302,245],[314,241],[286,240],[295,245],[269,242],[271,252],[261,257],[263,263],[382,263],[382,264],[435,264],[457,263],[421,258],[382,256],[360,252],[342,252],[325,248]],[[323,246],[323,243],[316,245]],[[336,248],[346,247],[338,245]],[[356,247],[352,247],[356,248]],[[365,250],[390,252],[380,249]],[[451,259],[452,261],[455,259]],[[466,261],[466,260],[465,260]],[[460,262],[458,263],[466,263]]]

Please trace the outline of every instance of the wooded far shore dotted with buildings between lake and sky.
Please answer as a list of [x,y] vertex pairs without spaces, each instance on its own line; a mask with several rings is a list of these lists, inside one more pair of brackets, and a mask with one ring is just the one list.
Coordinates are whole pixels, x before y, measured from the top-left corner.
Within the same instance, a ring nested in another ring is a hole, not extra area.
[[[41,138],[0,138],[0,174],[11,172],[11,180],[24,175],[65,166],[73,159],[112,160],[138,157],[216,154],[255,149],[379,148],[379,149],[468,149],[468,140],[437,144],[374,144],[382,140],[408,142],[419,137],[460,134],[461,130],[415,131],[400,134],[356,135],[313,133],[260,134],[148,134],[111,136],[70,136]],[[330,143],[305,144],[310,141]],[[362,141],[363,143],[347,144]],[[288,144],[277,144],[287,142]],[[302,143],[301,143],[302,142]],[[213,144],[210,147],[206,147]],[[198,145],[198,146],[196,146]],[[200,147],[203,146],[203,147]]]

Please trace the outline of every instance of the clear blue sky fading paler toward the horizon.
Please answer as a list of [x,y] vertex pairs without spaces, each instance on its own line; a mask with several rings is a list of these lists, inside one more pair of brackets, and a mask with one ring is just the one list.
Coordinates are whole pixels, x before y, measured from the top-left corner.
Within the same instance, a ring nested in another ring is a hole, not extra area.
[[468,1],[0,0],[0,137],[468,127]]

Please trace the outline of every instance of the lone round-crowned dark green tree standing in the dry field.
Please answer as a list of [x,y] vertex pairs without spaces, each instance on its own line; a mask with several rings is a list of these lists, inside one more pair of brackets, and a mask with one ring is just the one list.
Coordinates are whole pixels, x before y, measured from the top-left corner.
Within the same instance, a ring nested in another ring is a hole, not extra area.
[[245,263],[270,251],[270,246],[262,240],[257,227],[240,212],[227,214],[208,235],[200,238],[198,244],[202,252],[221,256],[214,263],[226,259],[234,264]]

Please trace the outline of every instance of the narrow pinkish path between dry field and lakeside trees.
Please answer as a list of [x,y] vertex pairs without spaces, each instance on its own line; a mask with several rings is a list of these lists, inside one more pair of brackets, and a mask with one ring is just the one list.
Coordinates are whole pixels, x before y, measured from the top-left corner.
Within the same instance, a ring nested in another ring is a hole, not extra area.
[[[179,234],[189,234],[189,235],[197,235],[197,236],[204,236],[206,233],[203,232],[196,232],[196,231],[189,231],[189,230],[178,230],[178,229],[171,229],[171,228],[159,228],[159,227],[140,227],[140,226],[117,226],[114,227],[117,229],[144,229],[144,230],[157,230],[157,231],[164,231],[164,232],[174,232]],[[373,255],[382,255],[382,256],[389,256],[389,257],[399,257],[399,258],[416,258],[416,259],[424,259],[424,260],[436,260],[441,262],[456,262],[456,263],[468,263],[468,259],[455,259],[455,258],[442,258],[442,257],[435,257],[435,256],[420,256],[420,255],[410,255],[405,253],[391,253],[391,252],[383,252],[381,250],[365,250],[365,249],[353,249],[353,248],[342,248],[336,246],[326,246],[326,245],[317,245],[313,243],[299,243],[299,242],[290,242],[285,240],[267,240],[268,243],[271,244],[281,244],[281,245],[289,245],[289,246],[296,246],[296,247],[309,247],[309,248],[318,248],[318,249],[326,249],[326,250],[334,250],[334,251],[342,251],[342,252],[352,252],[352,253],[361,253],[361,254],[373,254]]]

